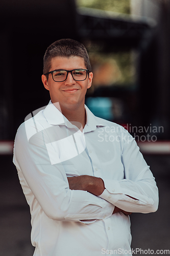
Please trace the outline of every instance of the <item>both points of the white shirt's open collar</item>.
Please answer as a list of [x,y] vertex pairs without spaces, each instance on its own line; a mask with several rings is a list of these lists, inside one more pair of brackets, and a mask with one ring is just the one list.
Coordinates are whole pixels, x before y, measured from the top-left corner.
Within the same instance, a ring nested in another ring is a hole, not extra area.
[[[92,114],[92,112],[85,105],[87,122],[84,127],[84,132],[91,132],[96,129],[96,126],[106,126],[104,120],[98,118]],[[69,128],[72,128],[73,125],[68,121],[68,119],[56,108],[56,106],[50,102],[43,111],[44,117],[47,122],[51,125],[65,125]]]

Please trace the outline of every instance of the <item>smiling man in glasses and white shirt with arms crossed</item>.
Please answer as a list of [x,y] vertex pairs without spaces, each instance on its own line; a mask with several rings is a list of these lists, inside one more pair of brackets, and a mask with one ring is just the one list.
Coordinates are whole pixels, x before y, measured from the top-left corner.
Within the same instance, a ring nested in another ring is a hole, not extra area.
[[84,105],[92,76],[82,44],[54,42],[42,75],[51,101],[17,131],[14,164],[30,205],[34,256],[132,255],[129,214],[158,207],[134,139]]

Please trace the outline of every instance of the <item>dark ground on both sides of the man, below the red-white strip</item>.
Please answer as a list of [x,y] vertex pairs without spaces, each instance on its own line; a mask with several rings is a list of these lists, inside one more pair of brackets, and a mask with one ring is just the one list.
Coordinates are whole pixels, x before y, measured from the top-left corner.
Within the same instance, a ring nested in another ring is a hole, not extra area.
[[[146,255],[149,251],[144,250],[148,249],[154,250],[154,254],[156,250],[170,250],[170,157],[145,156],[145,159],[156,177],[160,204],[154,214],[132,214],[131,230],[132,248],[141,248]],[[22,194],[12,156],[0,156],[0,169],[0,255],[32,256],[29,206]],[[161,255],[166,255],[162,252]]]

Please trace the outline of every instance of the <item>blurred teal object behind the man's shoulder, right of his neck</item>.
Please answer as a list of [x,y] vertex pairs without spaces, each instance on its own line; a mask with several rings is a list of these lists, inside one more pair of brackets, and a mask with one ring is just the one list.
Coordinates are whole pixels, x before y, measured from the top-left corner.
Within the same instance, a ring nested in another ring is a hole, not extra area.
[[85,101],[89,110],[98,117],[112,121],[112,100],[107,97],[88,97]]

